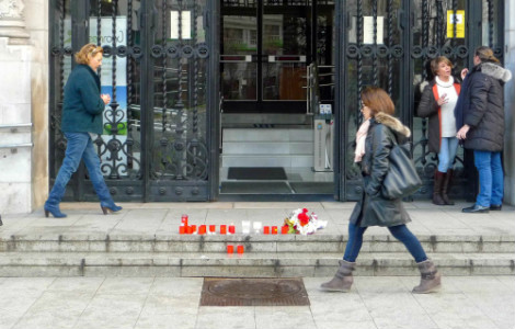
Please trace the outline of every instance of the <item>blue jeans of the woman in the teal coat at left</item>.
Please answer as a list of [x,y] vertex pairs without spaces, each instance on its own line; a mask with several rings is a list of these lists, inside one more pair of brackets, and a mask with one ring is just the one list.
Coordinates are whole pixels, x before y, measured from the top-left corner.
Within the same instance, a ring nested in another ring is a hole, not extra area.
[[52,188],[45,204],[50,207],[59,204],[62,195],[65,195],[66,185],[71,174],[77,171],[80,160],[83,159],[101,205],[112,205],[113,198],[111,197],[104,177],[100,170],[100,159],[95,152],[90,135],[88,133],[65,133],[65,137],[68,140],[65,160],[62,161],[54,188]]

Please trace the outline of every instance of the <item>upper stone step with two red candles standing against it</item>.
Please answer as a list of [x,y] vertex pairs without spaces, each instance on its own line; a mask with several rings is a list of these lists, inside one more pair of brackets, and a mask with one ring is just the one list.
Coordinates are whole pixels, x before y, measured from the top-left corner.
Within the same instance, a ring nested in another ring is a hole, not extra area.
[[[504,253],[515,250],[515,236],[417,236],[427,252]],[[345,235],[12,235],[0,237],[0,252],[225,252],[243,245],[250,254],[277,252],[343,253]],[[362,252],[403,252],[389,235],[365,235]]]

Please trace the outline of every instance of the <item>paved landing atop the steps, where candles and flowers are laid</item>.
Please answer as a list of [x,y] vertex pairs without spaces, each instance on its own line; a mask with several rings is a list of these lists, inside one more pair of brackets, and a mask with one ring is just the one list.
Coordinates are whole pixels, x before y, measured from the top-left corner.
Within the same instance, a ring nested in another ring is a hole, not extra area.
[[[234,223],[241,232],[241,220],[282,225],[293,209],[307,207],[319,219],[328,220],[317,235],[346,235],[354,202],[203,202],[203,203],[119,203],[124,209],[103,215],[99,203],[62,203],[67,218],[45,218],[43,208],[27,215],[2,215],[0,237],[12,235],[170,235],[179,234],[181,214],[191,224]],[[502,212],[464,214],[468,203],[435,206],[428,201],[404,203],[412,218],[409,228],[415,235],[434,236],[513,236],[515,207]],[[370,227],[366,235],[388,235],[381,227]]]

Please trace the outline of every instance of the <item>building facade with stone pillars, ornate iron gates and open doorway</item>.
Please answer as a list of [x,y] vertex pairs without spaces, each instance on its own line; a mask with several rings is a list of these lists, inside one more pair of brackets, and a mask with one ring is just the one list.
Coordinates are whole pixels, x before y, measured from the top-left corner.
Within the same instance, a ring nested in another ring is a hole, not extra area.
[[[426,64],[458,72],[487,45],[515,68],[515,1],[11,0],[0,4],[0,209],[31,212],[64,158],[72,54],[104,47],[113,102],[95,140],[116,201],[356,200],[359,92],[384,88],[413,131],[428,198],[437,158],[414,115]],[[505,202],[515,204],[514,84],[505,84]],[[451,194],[472,200],[464,149]],[[68,201],[94,201],[80,168]]]

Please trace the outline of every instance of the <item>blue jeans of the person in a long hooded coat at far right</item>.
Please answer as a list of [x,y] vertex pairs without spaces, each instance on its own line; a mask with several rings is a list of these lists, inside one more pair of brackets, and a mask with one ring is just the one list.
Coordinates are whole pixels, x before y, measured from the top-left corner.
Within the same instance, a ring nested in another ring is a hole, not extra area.
[[476,204],[483,207],[503,204],[504,173],[501,152],[474,150],[473,162],[479,172],[479,194]]

